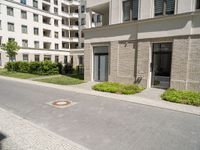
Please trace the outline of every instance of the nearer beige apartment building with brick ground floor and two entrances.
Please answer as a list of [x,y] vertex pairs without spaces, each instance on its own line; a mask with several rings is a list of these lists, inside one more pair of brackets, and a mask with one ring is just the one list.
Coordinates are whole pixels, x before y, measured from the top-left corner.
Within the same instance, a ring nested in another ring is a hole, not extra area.
[[87,0],[86,20],[86,81],[200,91],[200,0]]

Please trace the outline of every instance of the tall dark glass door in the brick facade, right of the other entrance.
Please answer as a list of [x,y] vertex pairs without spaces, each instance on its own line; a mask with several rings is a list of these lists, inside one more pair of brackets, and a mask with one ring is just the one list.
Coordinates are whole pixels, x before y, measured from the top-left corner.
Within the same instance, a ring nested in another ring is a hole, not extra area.
[[172,43],[153,44],[152,87],[167,89],[170,87]]

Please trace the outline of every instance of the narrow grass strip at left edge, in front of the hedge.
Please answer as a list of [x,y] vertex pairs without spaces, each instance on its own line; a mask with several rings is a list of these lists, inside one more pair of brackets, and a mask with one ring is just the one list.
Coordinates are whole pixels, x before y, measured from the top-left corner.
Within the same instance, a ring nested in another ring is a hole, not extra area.
[[0,69],[0,75],[7,76],[7,77],[20,78],[20,79],[40,77],[39,75],[34,75],[34,74],[29,74],[29,73],[11,72],[11,71],[7,71],[6,69]]

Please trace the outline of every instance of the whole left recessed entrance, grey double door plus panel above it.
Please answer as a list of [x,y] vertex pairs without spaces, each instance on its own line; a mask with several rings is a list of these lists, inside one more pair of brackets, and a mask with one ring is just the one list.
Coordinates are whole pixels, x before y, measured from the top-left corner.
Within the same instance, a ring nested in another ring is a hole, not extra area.
[[108,81],[108,47],[94,47],[94,81]]

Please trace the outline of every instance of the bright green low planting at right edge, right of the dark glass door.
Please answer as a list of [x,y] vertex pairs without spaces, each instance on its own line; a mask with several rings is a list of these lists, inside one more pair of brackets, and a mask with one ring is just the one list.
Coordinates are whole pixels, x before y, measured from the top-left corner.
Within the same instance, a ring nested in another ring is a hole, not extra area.
[[174,103],[200,106],[200,92],[168,89],[161,97],[163,100]]

